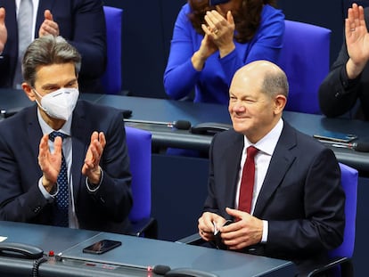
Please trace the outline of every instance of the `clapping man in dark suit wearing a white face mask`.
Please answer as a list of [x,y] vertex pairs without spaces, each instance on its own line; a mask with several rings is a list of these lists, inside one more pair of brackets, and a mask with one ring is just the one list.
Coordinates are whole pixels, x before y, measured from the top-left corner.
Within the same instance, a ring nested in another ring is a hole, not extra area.
[[[123,115],[78,101],[80,62],[62,37],[29,45],[22,87],[37,104],[0,123],[0,220],[127,232],[132,195]],[[66,137],[52,142],[53,131]],[[62,189],[66,224],[55,220]]]

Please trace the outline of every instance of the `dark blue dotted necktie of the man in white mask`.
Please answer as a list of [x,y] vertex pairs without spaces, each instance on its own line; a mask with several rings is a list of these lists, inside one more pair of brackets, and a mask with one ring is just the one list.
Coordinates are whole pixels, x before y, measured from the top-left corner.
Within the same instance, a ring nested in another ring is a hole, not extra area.
[[[49,139],[53,142],[55,137],[60,136],[63,140],[68,134],[62,134],[61,132],[52,132],[49,134]],[[56,195],[56,207],[54,213],[53,224],[57,226],[69,226],[68,220],[68,206],[69,206],[69,193],[68,193],[68,171],[67,163],[65,162],[64,154],[61,151],[61,171],[58,175],[58,194]]]

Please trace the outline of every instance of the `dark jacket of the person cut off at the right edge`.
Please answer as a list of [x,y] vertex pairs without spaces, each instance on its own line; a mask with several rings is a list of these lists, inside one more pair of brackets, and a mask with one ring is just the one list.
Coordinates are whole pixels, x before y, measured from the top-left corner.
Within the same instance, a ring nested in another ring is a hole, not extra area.
[[[369,29],[369,8],[365,8],[364,12],[366,28]],[[343,39],[339,56],[319,88],[320,109],[330,118],[351,112],[348,114],[351,118],[369,120],[369,64],[366,63],[356,79],[348,80],[346,63],[349,57],[346,39]],[[353,110],[357,101],[360,102],[360,109]]]

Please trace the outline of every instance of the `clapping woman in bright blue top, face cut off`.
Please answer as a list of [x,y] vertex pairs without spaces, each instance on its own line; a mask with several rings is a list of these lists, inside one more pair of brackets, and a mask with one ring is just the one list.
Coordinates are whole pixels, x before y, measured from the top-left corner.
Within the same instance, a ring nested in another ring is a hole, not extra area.
[[172,99],[228,103],[234,72],[250,61],[278,61],[284,15],[274,0],[189,0],[179,12],[167,69]]

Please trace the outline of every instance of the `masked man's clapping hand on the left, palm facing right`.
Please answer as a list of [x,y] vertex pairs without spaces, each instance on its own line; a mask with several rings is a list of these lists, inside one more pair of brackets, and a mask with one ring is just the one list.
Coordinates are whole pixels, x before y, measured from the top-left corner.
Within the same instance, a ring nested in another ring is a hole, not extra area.
[[61,137],[55,137],[53,153],[49,149],[49,135],[44,134],[39,144],[38,165],[43,172],[42,184],[50,192],[61,171]]

